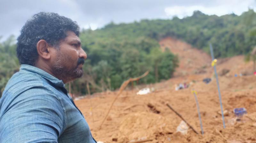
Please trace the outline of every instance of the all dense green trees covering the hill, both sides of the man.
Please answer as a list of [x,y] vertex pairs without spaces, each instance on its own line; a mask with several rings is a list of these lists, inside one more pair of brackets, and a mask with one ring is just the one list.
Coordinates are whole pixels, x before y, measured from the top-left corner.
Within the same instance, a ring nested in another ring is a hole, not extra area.
[[[150,73],[138,83],[158,82],[172,77],[178,65],[177,56],[170,51],[161,52],[158,41],[176,37],[209,52],[212,43],[216,57],[249,53],[256,45],[256,13],[253,10],[241,16],[229,14],[208,16],[195,11],[191,17],[172,20],[141,20],[130,24],[109,23],[98,30],[82,30],[81,41],[88,59],[84,77],[73,82],[76,94],[85,94],[86,83],[91,92],[114,90],[121,83],[137,77],[147,70]],[[0,89],[10,76],[18,71],[13,37],[0,43]],[[135,83],[137,84],[137,83]]]

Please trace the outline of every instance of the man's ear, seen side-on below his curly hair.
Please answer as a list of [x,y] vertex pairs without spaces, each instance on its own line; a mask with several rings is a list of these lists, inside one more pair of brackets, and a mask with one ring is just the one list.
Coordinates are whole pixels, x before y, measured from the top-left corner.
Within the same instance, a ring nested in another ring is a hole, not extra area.
[[39,40],[36,44],[38,55],[46,60],[51,58],[51,54],[50,54],[51,52],[49,51],[50,48],[52,47],[50,47],[45,40]]

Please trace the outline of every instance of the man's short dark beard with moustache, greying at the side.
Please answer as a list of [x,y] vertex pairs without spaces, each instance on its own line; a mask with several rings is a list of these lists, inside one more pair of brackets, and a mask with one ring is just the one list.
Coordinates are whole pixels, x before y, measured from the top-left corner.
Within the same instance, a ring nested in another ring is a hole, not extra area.
[[76,67],[68,69],[64,66],[63,60],[61,60],[60,56],[53,64],[54,74],[60,80],[73,80],[83,76],[83,70],[78,68],[79,64],[84,64],[84,58],[79,58],[77,61]]

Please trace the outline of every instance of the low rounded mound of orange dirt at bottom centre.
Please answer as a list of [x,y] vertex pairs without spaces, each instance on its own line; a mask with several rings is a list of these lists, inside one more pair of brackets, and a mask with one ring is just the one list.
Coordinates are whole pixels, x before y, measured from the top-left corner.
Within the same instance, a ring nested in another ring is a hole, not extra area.
[[[158,135],[172,134],[176,126],[165,117],[148,112],[131,113],[120,124],[118,142],[155,139]],[[145,132],[147,131],[147,132]]]

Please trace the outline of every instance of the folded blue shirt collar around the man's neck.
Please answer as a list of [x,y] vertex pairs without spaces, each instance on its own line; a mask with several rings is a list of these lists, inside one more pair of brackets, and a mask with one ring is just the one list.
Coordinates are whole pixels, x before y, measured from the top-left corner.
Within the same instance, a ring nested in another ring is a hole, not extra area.
[[38,74],[42,76],[44,79],[50,81],[53,85],[58,86],[58,87],[64,87],[64,83],[62,80],[59,80],[52,76],[51,74],[45,72],[44,70],[41,70],[37,67],[28,65],[28,64],[21,64],[20,66],[20,72],[25,71],[25,72],[32,72],[33,74]]

